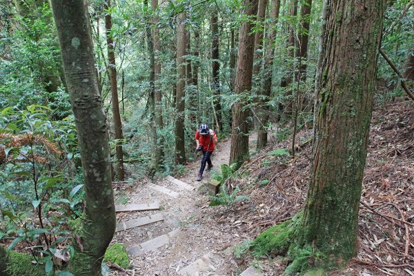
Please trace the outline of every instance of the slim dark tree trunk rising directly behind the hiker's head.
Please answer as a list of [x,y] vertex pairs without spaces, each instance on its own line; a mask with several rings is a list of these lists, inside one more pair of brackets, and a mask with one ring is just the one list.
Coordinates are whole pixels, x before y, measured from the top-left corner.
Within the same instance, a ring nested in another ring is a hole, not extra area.
[[218,17],[217,11],[213,11],[211,14],[211,21],[210,21],[210,28],[211,28],[211,68],[213,69],[212,76],[213,76],[213,83],[212,88],[214,91],[214,111],[217,115],[217,131],[221,131],[223,129],[223,123],[221,119],[221,104],[220,104],[220,57],[219,57],[219,25],[218,25]]

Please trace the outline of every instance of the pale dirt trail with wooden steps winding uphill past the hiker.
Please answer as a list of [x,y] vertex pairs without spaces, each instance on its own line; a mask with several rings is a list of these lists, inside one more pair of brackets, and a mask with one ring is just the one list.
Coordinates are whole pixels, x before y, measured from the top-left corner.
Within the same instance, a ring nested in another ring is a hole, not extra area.
[[[256,136],[250,135],[251,150],[255,141]],[[115,233],[113,242],[124,243],[130,253],[131,248],[135,248],[131,254],[134,255],[132,266],[135,275],[238,275],[242,272],[242,268],[237,269],[231,246],[241,244],[249,237],[237,233],[240,221],[225,221],[225,207],[208,207],[206,184],[215,171],[219,172],[221,164],[228,164],[229,157],[230,139],[226,139],[218,144],[212,157],[214,168],[211,172],[204,172],[202,181],[195,181],[200,156],[186,166],[184,175],[172,175],[193,186],[194,190],[159,179],[154,184],[141,181],[119,193],[129,198],[128,204],[159,202],[161,208],[117,213],[118,223],[148,215],[161,214],[164,217],[163,221]],[[153,247],[158,248],[150,250]]]

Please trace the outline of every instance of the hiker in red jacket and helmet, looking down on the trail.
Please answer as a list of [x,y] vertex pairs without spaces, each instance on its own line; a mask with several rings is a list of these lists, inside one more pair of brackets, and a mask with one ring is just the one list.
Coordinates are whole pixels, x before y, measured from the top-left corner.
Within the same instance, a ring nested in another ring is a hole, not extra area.
[[217,144],[217,135],[213,130],[208,129],[206,124],[202,124],[199,130],[195,132],[195,142],[197,143],[197,150],[203,152],[203,158],[201,158],[201,168],[196,178],[197,181],[201,181],[204,168],[206,168],[206,163],[208,164],[207,170],[211,170],[211,168],[213,168],[210,156],[213,153],[215,145]]

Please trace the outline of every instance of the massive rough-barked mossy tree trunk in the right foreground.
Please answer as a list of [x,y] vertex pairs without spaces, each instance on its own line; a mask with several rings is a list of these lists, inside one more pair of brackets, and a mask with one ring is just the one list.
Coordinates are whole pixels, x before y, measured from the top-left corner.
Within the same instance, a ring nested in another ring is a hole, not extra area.
[[319,264],[315,259],[316,266],[341,266],[357,253],[359,200],[386,1],[339,0],[328,7],[311,181],[299,246],[310,245],[326,257]]

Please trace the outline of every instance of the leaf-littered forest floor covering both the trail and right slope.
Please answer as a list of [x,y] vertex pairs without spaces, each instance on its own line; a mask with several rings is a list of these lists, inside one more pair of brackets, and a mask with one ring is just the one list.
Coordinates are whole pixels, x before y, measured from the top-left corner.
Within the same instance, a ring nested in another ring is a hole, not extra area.
[[[408,99],[375,108],[371,123],[370,144],[359,211],[359,253],[344,270],[328,275],[411,275],[414,276],[414,130],[410,113],[414,105]],[[296,145],[306,144],[312,130],[302,130]],[[273,139],[275,140],[275,139]],[[254,152],[255,135],[250,135],[250,152]],[[133,185],[115,185],[117,203],[159,202],[161,210],[117,213],[117,221],[127,221],[161,213],[164,221],[119,231],[113,242],[127,248],[159,237],[172,230],[174,237],[165,246],[133,257],[131,270],[113,270],[112,275],[186,275],[194,262],[207,264],[203,273],[188,275],[239,275],[255,266],[263,275],[281,275],[286,262],[277,256],[254,259],[242,254],[248,241],[269,226],[290,219],[304,206],[308,191],[311,143],[296,147],[296,157],[279,155],[289,150],[291,141],[273,141],[261,152],[255,152],[244,164],[237,179],[228,181],[239,186],[244,200],[231,206],[209,207],[206,184],[228,164],[230,140],[219,141],[213,155],[212,172],[195,181],[199,158],[186,166],[177,179],[195,187],[183,190],[158,179],[154,184],[174,190],[176,197],[155,190],[148,179]],[[152,188],[151,188],[152,186]],[[203,261],[197,259],[203,258]],[[181,273],[181,274],[180,274]]]

